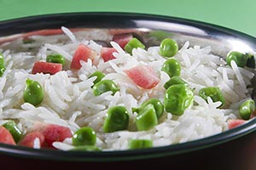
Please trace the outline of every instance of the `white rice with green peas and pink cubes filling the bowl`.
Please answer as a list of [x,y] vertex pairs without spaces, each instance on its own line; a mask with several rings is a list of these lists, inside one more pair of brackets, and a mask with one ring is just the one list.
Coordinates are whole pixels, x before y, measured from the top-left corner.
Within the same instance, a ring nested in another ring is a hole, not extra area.
[[0,142],[35,149],[130,150],[202,139],[252,119],[253,54],[171,38],[111,47],[66,27],[2,45]]

